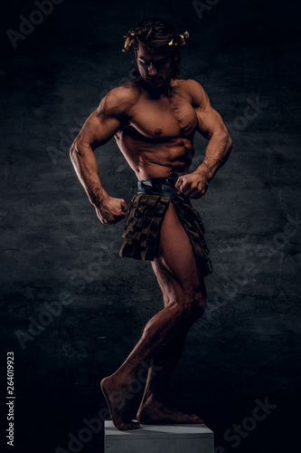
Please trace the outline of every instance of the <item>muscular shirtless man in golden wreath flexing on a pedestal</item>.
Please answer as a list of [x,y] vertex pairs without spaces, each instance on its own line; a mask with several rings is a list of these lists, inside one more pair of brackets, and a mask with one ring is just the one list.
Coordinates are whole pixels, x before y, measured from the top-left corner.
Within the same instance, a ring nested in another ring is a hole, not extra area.
[[[150,197],[152,203],[154,199],[155,203],[162,202],[165,211],[154,256],[147,257],[146,251],[146,255],[139,257],[152,260],[164,308],[146,324],[139,342],[118,371],[101,381],[111,418],[118,429],[137,429],[139,423],[202,423],[197,415],[167,409],[164,404],[166,386],[183,351],[186,335],[205,309],[203,277],[212,272],[208,270],[206,254],[203,263],[207,267],[199,265],[183,223],[187,216],[184,214],[181,220],[177,207],[183,203],[188,206],[189,198],[201,198],[205,194],[214,174],[229,156],[231,140],[202,86],[193,80],[176,79],[179,46],[188,36],[187,32],[177,34],[172,25],[156,18],[146,19],[131,30],[124,50],[134,48],[136,79],[108,92],[71,147],[74,168],[103,224],[122,220],[127,211],[125,200],[110,197],[99,180],[94,150],[112,137],[140,181],[135,209],[142,209]],[[209,142],[201,165],[187,173],[193,159],[196,131]],[[161,182],[166,182],[170,191],[165,191],[163,185],[160,192]],[[150,184],[155,191],[149,189]],[[134,213],[131,220],[137,216]],[[130,226],[128,229],[130,236]],[[131,247],[127,237],[125,243],[121,255],[127,255],[125,250]],[[205,249],[203,246],[201,252]],[[141,373],[141,363],[150,363],[150,367],[136,421],[128,410],[128,389]]]

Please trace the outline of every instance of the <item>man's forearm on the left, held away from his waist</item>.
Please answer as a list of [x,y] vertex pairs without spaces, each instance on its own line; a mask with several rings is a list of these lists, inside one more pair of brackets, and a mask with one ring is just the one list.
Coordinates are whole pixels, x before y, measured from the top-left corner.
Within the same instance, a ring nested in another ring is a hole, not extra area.
[[89,145],[76,140],[71,147],[71,161],[90,203],[99,207],[108,194],[101,185],[99,165],[93,150]]

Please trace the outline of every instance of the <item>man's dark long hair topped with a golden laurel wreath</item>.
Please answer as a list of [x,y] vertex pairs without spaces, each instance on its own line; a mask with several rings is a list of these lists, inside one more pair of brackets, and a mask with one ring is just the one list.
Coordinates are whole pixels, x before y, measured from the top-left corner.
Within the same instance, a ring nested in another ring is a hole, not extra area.
[[[180,72],[181,56],[179,46],[185,43],[183,36],[187,39],[189,36],[188,32],[178,34],[173,25],[168,24],[168,22],[159,17],[151,17],[136,24],[136,27],[127,33],[123,51],[128,52],[133,48],[136,57],[139,42],[143,43],[149,49],[167,50],[171,53],[174,61],[172,78],[175,79]],[[139,76],[136,59],[132,73],[134,77]]]

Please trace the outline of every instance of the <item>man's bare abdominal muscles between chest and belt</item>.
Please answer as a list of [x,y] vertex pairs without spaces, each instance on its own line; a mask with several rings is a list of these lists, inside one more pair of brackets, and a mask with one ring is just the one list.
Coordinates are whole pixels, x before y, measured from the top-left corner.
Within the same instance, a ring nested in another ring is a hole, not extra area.
[[194,154],[191,140],[133,140],[122,135],[116,137],[118,147],[139,181],[166,177],[173,170],[179,176],[187,173]]

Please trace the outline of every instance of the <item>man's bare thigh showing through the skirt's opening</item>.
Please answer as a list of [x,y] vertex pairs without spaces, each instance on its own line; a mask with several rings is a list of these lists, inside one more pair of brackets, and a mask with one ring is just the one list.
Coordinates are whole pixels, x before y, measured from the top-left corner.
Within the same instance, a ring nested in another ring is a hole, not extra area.
[[200,297],[205,300],[206,290],[201,271],[172,202],[165,213],[158,254],[152,266],[164,295],[165,306],[174,302],[189,304]]

